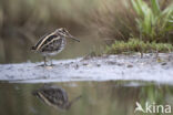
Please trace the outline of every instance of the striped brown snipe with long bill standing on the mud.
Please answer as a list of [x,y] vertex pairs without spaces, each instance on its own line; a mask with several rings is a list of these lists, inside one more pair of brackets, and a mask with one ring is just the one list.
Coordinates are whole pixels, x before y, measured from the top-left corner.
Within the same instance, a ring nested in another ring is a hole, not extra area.
[[[47,66],[47,58],[60,53],[67,44],[67,38],[80,42],[64,28],[55,29],[53,32],[43,35],[35,45],[31,46],[31,51],[43,55],[44,66]],[[51,61],[51,65],[52,61]]]

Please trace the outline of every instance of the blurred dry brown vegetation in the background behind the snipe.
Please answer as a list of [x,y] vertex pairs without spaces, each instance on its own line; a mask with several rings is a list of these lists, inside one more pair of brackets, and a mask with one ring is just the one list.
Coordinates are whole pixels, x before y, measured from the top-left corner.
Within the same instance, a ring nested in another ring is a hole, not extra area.
[[[160,2],[161,9],[171,3],[171,0],[163,1]],[[105,40],[126,41],[131,34],[140,34],[134,20],[136,14],[130,0],[2,0],[0,2],[1,38],[7,38],[9,33],[18,33],[30,40],[42,31],[59,27],[71,30],[88,28]]]

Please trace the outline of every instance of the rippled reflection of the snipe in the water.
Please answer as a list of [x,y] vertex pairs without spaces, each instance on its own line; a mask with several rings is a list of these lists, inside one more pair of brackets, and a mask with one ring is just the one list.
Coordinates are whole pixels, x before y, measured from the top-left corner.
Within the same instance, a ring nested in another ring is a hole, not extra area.
[[69,102],[68,93],[63,88],[50,84],[44,84],[41,88],[33,91],[32,94],[43,103],[60,109],[69,109],[74,102],[81,98],[80,95]]

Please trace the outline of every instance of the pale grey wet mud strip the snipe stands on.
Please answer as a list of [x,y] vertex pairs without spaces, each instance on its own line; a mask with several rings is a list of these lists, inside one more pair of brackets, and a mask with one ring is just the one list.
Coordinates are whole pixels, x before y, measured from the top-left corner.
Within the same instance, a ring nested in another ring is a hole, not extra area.
[[0,64],[0,81],[20,83],[140,80],[173,84],[173,53],[103,55],[38,63]]

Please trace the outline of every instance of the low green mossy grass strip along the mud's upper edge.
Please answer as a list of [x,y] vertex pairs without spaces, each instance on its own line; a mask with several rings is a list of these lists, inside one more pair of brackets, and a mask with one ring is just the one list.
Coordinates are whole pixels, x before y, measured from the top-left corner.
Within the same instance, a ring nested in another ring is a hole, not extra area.
[[128,42],[115,41],[111,46],[106,46],[105,53],[120,54],[132,52],[172,52],[173,45],[170,43],[144,42],[139,39],[130,39]]

